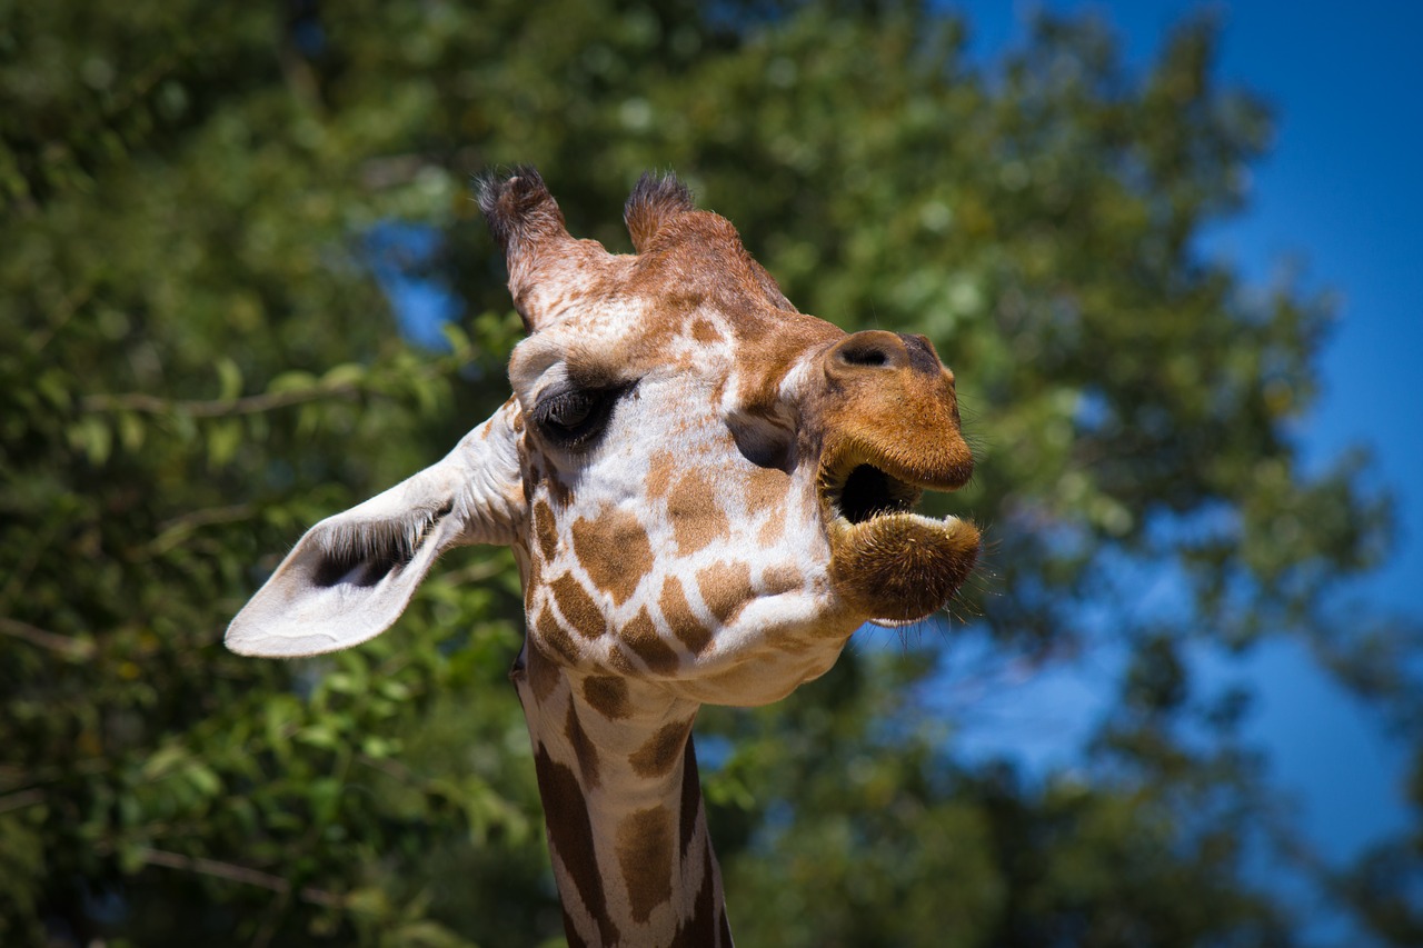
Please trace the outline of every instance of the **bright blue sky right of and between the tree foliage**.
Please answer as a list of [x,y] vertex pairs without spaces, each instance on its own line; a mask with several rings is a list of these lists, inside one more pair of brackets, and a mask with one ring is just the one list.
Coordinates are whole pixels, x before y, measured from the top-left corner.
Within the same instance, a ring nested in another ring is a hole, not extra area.
[[[1224,23],[1218,75],[1264,95],[1276,110],[1276,141],[1255,168],[1247,212],[1210,235],[1204,251],[1234,260],[1255,283],[1286,262],[1303,266],[1305,285],[1338,292],[1339,323],[1322,363],[1322,396],[1299,426],[1306,463],[1318,470],[1350,447],[1376,458],[1379,480],[1397,498],[1400,537],[1392,561],[1350,588],[1375,606],[1423,616],[1423,396],[1414,363],[1423,357],[1423,265],[1416,235],[1423,221],[1423,4],[1005,3],[945,4],[970,24],[970,50],[993,60],[1022,41],[1035,7],[1100,13],[1113,24],[1130,63],[1144,65],[1173,23],[1214,10]],[[1406,811],[1406,749],[1383,736],[1382,722],[1335,688],[1298,648],[1262,649],[1244,668],[1202,660],[1208,675],[1247,675],[1261,692],[1249,733],[1271,753],[1278,783],[1294,791],[1306,831],[1332,858],[1399,831]],[[1005,703],[1017,723],[1050,709],[1057,727],[1025,737],[1029,760],[1050,760],[1070,746],[1072,725],[1104,696],[1106,670],[1077,669],[1029,682]],[[970,734],[992,742],[1013,727]],[[1066,716],[1067,720],[1073,715]],[[1348,774],[1348,776],[1345,776]]]

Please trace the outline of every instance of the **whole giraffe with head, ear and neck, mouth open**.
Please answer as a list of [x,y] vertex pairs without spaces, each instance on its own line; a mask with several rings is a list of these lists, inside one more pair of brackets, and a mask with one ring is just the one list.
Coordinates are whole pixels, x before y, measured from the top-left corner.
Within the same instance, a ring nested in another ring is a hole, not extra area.
[[800,313],[675,177],[625,206],[635,252],[568,233],[532,168],[485,178],[525,337],[512,396],[441,461],[314,525],[232,621],[243,655],[388,628],[435,558],[505,544],[571,945],[730,945],[692,725],[822,675],[867,621],[941,608],[978,530],[914,512],[973,461],[922,336]]

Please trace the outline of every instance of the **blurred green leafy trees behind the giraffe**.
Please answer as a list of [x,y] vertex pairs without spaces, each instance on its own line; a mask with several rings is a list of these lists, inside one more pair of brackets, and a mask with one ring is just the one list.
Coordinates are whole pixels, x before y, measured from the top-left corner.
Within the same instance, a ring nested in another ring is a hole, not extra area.
[[[1271,131],[1217,87],[1208,21],[1144,75],[1093,20],[983,67],[915,3],[51,0],[0,23],[0,941],[559,938],[502,552],[453,558],[354,652],[219,645],[303,527],[507,396],[518,320],[464,181],[518,161],[623,249],[628,188],[675,167],[803,309],[928,333],[980,455],[943,502],[990,535],[962,619],[998,662],[1123,668],[1081,766],[1042,780],[955,756],[926,713],[953,660],[935,623],[707,713],[747,944],[1301,941],[1247,871],[1296,841],[1244,697],[1185,649],[1302,636],[1406,727],[1417,652],[1326,608],[1390,524],[1362,460],[1296,458],[1328,300],[1248,293],[1197,251]],[[401,317],[431,302],[453,319],[418,349]],[[1321,897],[1409,944],[1393,870],[1420,855]]]

